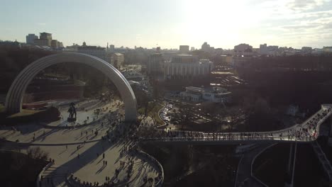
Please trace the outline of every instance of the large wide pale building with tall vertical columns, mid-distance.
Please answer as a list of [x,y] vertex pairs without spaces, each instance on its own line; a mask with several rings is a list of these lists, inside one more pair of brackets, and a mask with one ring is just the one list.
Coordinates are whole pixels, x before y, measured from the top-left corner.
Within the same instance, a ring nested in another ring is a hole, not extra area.
[[175,55],[170,61],[162,64],[164,79],[193,79],[211,73],[214,63],[199,60],[197,56]]

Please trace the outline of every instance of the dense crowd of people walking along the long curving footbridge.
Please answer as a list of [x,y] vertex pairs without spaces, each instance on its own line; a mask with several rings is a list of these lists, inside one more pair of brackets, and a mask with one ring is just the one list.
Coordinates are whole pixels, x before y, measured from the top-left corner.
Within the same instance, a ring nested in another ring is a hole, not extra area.
[[[219,140],[292,140],[292,141],[310,141],[318,136],[317,126],[331,108],[321,109],[309,120],[301,125],[294,125],[292,128],[271,132],[191,132],[181,130],[157,130],[149,126],[145,128],[141,140],[157,141],[219,141]],[[143,130],[144,131],[144,130]],[[142,133],[140,134],[142,135]]]

